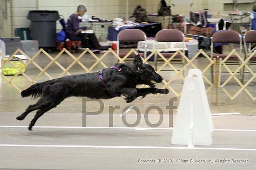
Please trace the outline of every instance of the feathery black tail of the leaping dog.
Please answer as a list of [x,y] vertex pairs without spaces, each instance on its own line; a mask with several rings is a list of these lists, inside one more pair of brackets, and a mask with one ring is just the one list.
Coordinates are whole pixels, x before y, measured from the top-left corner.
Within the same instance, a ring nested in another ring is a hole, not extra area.
[[55,82],[57,82],[57,79],[48,80],[48,81],[45,81],[45,82],[39,82],[39,83],[33,84],[29,88],[21,91],[21,96],[22,97],[32,96],[32,98],[37,98],[42,94],[43,88],[46,85],[48,85],[48,84],[51,85],[51,84],[54,84]]

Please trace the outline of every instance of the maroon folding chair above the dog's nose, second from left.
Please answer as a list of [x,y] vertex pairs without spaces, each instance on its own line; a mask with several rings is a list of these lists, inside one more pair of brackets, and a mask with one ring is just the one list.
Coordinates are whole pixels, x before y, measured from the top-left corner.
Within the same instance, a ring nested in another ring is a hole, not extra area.
[[[164,29],[161,31],[158,31],[157,34],[155,35],[155,47],[157,46],[157,44],[159,42],[169,42],[169,43],[174,43],[174,42],[181,42],[182,43],[182,48],[175,48],[173,50],[182,50],[182,52],[185,54],[185,43],[184,43],[184,34],[182,33],[182,31],[179,30],[173,30],[173,29]],[[170,49],[172,50],[172,49]],[[163,57],[165,58],[170,58],[173,56],[173,52],[161,52],[161,54],[163,55]],[[163,59],[155,54],[155,69],[157,69],[157,64],[158,63],[165,63],[163,61]],[[184,66],[185,60],[182,57],[181,54],[177,54],[172,60],[171,63],[180,63],[182,64],[182,67]],[[172,71],[172,70],[162,70],[162,71]]]

